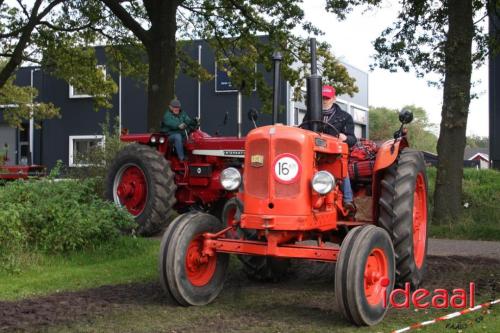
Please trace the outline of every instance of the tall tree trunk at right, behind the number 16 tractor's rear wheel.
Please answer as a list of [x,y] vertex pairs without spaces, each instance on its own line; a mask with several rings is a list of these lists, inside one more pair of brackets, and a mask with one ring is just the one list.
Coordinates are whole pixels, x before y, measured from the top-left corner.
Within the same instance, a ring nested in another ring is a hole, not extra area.
[[472,73],[472,1],[454,0],[448,6],[449,29],[434,193],[436,223],[454,221],[462,210],[463,154]]

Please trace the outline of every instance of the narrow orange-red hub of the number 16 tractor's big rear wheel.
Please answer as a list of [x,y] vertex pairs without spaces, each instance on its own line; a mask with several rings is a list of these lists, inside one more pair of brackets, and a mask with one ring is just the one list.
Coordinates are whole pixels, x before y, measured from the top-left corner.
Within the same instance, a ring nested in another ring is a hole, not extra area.
[[427,191],[424,175],[417,175],[415,193],[413,195],[413,257],[417,268],[424,263],[427,242]]

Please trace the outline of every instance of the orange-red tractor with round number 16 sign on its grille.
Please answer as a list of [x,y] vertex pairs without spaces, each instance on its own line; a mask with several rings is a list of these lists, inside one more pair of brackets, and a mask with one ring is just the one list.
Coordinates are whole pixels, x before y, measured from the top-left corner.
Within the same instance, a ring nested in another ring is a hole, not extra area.
[[335,262],[335,297],[355,325],[380,322],[394,285],[417,287],[423,279],[427,177],[423,155],[408,147],[404,124],[413,116],[401,112],[394,139],[378,148],[373,161],[357,162],[372,166],[353,179],[355,198],[371,209],[368,217],[351,217],[340,186],[348,174],[349,150],[317,126],[328,124],[319,120],[321,77],[311,44],[313,130],[280,124],[252,130],[243,177],[225,179],[233,186],[242,179],[242,186],[238,198],[226,204],[222,222],[204,213],[183,214],[163,235],[160,280],[183,306],[217,297],[229,254],[237,254],[247,271],[268,277],[283,274],[292,258]]

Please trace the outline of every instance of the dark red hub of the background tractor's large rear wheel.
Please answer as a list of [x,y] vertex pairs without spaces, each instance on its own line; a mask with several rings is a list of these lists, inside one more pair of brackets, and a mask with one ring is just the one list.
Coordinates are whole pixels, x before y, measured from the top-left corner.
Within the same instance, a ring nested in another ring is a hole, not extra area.
[[144,172],[136,165],[127,165],[117,174],[118,183],[115,186],[119,203],[134,216],[142,213],[148,198],[148,185]]

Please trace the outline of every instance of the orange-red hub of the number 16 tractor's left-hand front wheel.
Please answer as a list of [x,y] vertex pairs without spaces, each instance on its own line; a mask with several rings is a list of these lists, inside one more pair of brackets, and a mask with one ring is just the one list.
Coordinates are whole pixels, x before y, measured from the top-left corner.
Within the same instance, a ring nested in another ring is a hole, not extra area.
[[215,274],[217,257],[203,255],[203,236],[193,239],[186,253],[186,275],[193,286],[203,287]]

